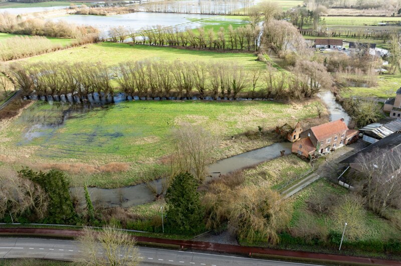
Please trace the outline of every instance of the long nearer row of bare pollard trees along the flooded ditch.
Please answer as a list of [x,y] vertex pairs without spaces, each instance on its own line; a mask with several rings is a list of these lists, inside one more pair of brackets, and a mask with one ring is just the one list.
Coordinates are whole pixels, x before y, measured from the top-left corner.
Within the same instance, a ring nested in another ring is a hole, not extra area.
[[10,72],[26,95],[71,93],[79,99],[95,92],[106,99],[115,90],[126,97],[302,98],[331,88],[331,76],[317,62],[299,61],[292,69],[291,73],[273,67],[246,70],[235,63],[147,60],[127,61],[116,67],[85,62],[14,63],[4,72]]

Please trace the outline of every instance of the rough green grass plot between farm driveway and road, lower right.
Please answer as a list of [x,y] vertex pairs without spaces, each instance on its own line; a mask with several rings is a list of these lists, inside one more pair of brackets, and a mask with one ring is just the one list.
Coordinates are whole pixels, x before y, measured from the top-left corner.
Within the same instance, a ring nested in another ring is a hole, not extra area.
[[[316,230],[319,230],[318,228],[320,228],[322,231],[329,231],[330,229],[334,229],[337,232],[341,231],[339,228],[340,226],[335,223],[333,217],[329,213],[315,213],[308,207],[308,201],[313,201],[316,196],[324,193],[327,193],[327,196],[332,198],[340,198],[349,192],[346,188],[333,185],[325,179],[320,179],[312,183],[310,186],[306,187],[294,196],[294,212],[290,222],[290,230],[299,230],[300,228],[297,228],[297,225],[309,224]],[[335,202],[341,201],[335,200]],[[335,204],[336,203],[333,202],[332,205]],[[305,223],[305,221],[307,222]],[[378,217],[370,210],[366,210],[364,215],[361,217],[361,221],[364,232],[359,237],[359,240],[361,241],[386,241],[389,238],[401,237],[401,230],[399,230],[399,228],[397,228],[389,220]],[[345,241],[347,240],[346,235],[344,239]]]

